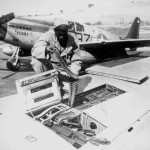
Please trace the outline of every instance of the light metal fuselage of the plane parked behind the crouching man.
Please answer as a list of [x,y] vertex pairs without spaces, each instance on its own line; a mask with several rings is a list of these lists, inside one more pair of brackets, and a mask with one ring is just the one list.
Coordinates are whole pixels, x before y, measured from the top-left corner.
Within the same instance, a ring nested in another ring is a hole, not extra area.
[[[69,33],[75,37],[77,43],[119,39],[119,37],[114,34],[92,26],[69,20],[68,24],[70,25]],[[0,28],[5,29],[1,40],[14,46],[21,47],[22,49],[31,50],[35,42],[43,33],[48,30],[53,32],[53,27],[54,19],[45,21],[37,19],[36,17],[16,17],[7,24],[1,25]]]

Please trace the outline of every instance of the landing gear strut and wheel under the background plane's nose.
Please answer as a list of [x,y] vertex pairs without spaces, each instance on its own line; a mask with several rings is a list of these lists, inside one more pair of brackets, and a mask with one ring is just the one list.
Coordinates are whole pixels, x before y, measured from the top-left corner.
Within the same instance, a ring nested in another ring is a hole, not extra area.
[[6,66],[11,71],[18,71],[20,69],[20,60],[19,60],[20,47],[17,47],[13,55],[8,59]]

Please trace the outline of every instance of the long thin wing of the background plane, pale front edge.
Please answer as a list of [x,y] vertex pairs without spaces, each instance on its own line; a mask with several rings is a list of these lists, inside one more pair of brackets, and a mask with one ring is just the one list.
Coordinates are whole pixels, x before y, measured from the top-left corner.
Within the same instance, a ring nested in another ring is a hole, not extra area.
[[150,46],[150,39],[127,39],[127,40],[109,40],[103,42],[82,42],[80,48],[84,49],[123,49]]

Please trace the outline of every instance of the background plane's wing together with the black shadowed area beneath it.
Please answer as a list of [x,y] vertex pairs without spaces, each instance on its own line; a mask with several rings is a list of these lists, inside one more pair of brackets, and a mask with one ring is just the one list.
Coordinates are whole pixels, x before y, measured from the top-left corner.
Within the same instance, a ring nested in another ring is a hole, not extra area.
[[103,42],[82,42],[79,48],[91,53],[97,60],[127,56],[126,49],[150,46],[150,39],[109,40]]

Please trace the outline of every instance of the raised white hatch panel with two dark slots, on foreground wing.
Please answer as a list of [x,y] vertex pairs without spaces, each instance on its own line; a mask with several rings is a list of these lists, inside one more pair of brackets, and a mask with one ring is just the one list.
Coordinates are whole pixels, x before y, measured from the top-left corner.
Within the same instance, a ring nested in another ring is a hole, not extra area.
[[58,73],[50,70],[16,81],[17,92],[25,101],[26,111],[36,111],[61,102]]

